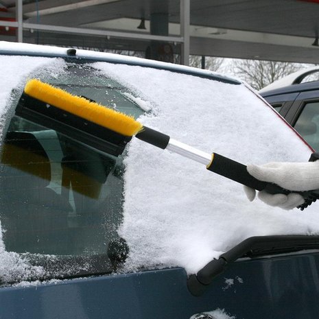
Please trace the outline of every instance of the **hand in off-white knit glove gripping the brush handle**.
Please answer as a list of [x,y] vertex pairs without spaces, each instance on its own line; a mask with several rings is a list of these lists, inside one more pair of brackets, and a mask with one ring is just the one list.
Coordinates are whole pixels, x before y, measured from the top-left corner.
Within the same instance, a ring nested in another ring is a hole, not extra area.
[[[309,191],[319,189],[319,161],[306,163],[268,163],[265,165],[248,165],[247,171],[264,182],[273,182],[290,191]],[[246,196],[250,202],[255,199],[256,191],[244,187]],[[270,206],[278,206],[282,209],[293,209],[305,200],[298,193],[270,194],[259,191],[260,200]]]

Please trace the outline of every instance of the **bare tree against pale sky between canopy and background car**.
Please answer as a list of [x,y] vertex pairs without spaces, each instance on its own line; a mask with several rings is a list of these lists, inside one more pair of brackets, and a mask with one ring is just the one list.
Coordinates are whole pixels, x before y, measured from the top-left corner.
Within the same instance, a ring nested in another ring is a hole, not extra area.
[[246,81],[256,90],[283,78],[292,72],[298,71],[303,64],[291,62],[235,60],[232,73]]

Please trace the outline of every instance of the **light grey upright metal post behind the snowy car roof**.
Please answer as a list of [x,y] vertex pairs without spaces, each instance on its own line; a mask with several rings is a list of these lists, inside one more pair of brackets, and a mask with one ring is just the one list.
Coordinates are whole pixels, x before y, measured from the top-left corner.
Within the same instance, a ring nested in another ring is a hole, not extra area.
[[181,52],[181,64],[189,65],[189,24],[190,24],[190,1],[191,0],[180,0],[180,36],[183,38],[182,52]]

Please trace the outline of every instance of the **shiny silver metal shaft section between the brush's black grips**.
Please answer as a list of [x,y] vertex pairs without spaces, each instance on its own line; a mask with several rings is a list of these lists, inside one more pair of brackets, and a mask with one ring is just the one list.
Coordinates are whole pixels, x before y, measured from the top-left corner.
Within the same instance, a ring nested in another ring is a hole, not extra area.
[[209,165],[209,163],[211,163],[211,154],[196,150],[196,148],[174,139],[169,140],[166,150],[180,154],[204,165]]

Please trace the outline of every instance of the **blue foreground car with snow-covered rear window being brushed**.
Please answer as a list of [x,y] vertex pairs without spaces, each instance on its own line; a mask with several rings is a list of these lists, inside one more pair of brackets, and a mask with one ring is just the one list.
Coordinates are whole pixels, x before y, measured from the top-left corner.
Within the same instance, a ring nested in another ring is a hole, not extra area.
[[[247,84],[21,43],[0,42],[0,65],[1,319],[318,316],[318,206],[251,203],[232,180],[238,165],[312,150]],[[34,80],[53,102],[29,95]],[[57,110],[62,92],[171,147]],[[209,172],[211,152],[231,166]]]

